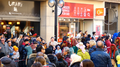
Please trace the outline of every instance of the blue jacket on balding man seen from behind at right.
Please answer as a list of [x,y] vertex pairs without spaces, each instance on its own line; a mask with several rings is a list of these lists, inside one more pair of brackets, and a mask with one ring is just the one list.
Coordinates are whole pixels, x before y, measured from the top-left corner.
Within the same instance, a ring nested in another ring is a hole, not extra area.
[[96,51],[92,52],[91,60],[95,67],[112,67],[110,56],[103,49],[97,48]]

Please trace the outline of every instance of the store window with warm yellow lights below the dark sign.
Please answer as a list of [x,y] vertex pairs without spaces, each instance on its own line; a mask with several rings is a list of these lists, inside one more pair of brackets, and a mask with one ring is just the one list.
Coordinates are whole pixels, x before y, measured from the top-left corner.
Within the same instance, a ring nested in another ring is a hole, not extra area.
[[0,33],[10,32],[11,36],[19,36],[20,33],[40,35],[40,22],[34,21],[1,21]]

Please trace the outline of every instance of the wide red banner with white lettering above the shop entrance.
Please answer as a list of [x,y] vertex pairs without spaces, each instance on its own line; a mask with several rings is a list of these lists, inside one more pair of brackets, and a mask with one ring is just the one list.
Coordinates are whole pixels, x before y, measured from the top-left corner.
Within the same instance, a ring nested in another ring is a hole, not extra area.
[[65,2],[59,17],[93,19],[93,5]]

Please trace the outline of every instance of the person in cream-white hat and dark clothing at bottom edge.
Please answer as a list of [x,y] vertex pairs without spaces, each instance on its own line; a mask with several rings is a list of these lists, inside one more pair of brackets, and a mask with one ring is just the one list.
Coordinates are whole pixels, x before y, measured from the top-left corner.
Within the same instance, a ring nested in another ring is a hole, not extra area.
[[80,67],[81,56],[78,56],[77,54],[72,54],[70,60],[70,67]]

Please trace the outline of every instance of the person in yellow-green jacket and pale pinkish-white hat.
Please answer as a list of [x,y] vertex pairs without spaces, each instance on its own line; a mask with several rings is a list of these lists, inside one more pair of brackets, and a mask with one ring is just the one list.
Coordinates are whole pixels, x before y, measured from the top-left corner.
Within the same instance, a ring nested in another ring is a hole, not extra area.
[[76,46],[79,49],[77,55],[81,56],[81,61],[84,59],[90,59],[90,55],[88,52],[86,52],[85,46],[82,42],[78,43]]

